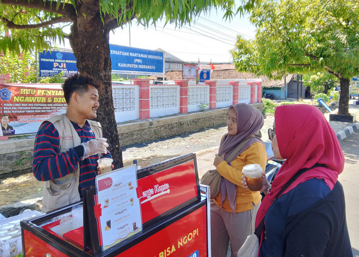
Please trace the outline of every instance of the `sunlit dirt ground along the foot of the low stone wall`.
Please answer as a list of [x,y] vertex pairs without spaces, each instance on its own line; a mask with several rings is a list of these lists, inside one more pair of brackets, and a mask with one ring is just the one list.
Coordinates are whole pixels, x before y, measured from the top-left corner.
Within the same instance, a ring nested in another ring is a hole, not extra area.
[[[267,131],[272,127],[274,116],[266,116],[262,135],[268,140]],[[222,136],[227,132],[227,126],[187,133],[180,136],[149,141],[141,144],[124,146],[124,165],[128,166],[137,159],[137,165],[145,168],[152,164],[218,146]],[[26,199],[42,196],[43,182],[37,181],[31,170],[24,170],[7,176],[0,176],[0,206]]]

